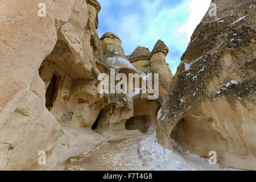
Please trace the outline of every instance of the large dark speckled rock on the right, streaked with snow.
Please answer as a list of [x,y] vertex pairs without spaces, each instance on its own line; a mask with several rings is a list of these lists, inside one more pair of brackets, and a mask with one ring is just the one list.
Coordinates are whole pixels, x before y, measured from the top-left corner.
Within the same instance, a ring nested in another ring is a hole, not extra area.
[[205,14],[193,32],[158,113],[158,141],[255,170],[255,3],[213,3],[217,17]]

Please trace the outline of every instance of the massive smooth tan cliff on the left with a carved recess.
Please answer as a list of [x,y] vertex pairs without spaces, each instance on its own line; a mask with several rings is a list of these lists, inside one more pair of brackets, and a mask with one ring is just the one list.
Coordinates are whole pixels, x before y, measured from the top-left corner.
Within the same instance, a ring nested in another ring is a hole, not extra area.
[[106,69],[98,6],[45,1],[47,16],[39,17],[39,3],[0,3],[0,169],[38,168],[39,151],[50,168],[99,138],[85,132],[105,105],[96,92],[97,68]]

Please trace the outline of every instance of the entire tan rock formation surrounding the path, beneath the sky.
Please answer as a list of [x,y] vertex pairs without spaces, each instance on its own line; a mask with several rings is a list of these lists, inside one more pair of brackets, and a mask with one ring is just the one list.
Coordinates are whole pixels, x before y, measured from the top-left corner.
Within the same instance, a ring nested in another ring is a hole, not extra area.
[[[256,169],[255,3],[213,2],[218,18],[205,15],[172,77],[161,40],[126,56],[117,35],[99,38],[96,0],[45,0],[46,16],[39,0],[2,0],[0,170],[52,169],[106,140],[155,130],[166,148],[174,138],[201,156],[216,151],[223,166]],[[139,84],[120,84],[118,73]],[[159,98],[149,100],[152,88],[138,90],[154,73]],[[122,92],[98,92],[100,75]]]

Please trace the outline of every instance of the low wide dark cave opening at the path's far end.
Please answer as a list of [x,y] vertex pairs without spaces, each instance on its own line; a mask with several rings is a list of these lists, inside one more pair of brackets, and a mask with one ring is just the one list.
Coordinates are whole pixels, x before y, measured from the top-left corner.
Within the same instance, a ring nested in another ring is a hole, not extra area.
[[128,119],[125,123],[126,130],[139,130],[141,133],[146,133],[151,125],[150,115],[138,115]]

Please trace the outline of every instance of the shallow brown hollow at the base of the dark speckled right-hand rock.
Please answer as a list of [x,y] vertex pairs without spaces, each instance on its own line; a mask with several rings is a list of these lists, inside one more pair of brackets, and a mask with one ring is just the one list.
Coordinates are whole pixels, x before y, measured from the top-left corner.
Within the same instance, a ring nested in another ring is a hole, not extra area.
[[171,139],[184,151],[200,156],[208,156],[212,150],[221,154],[227,149],[226,141],[213,126],[213,119],[205,114],[188,114],[174,127]]

